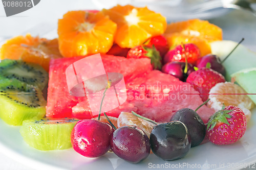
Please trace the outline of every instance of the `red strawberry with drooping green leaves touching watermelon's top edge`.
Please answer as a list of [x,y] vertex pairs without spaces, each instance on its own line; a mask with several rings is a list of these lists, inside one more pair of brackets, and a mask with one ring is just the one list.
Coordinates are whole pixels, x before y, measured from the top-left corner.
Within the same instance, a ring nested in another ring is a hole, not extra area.
[[154,69],[162,68],[162,57],[160,56],[159,51],[156,50],[155,45],[152,47],[147,45],[135,46],[129,50],[127,58],[150,58]]

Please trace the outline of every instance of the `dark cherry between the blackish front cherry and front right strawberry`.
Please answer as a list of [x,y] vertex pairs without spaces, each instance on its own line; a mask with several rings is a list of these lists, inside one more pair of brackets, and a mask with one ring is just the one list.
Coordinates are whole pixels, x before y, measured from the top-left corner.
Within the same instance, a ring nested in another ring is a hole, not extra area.
[[191,147],[196,147],[204,140],[206,126],[197,112],[189,108],[180,109],[170,118],[170,122],[175,120],[186,125],[191,138]]

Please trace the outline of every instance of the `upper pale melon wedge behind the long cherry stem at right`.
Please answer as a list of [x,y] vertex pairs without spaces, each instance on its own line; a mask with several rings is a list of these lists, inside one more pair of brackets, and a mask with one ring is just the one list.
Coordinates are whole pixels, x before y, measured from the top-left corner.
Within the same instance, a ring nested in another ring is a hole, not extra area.
[[[219,56],[222,61],[237,44],[229,40],[214,41],[210,43],[211,53]],[[222,64],[226,69],[226,81],[231,81],[231,74],[242,69],[256,67],[256,53],[240,44]]]

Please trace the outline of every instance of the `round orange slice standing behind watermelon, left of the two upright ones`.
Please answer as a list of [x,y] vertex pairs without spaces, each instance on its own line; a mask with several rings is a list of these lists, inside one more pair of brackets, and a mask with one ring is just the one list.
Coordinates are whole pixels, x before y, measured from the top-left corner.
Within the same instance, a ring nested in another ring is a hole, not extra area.
[[102,12],[69,11],[58,20],[60,53],[64,57],[106,53],[113,45],[116,27]]

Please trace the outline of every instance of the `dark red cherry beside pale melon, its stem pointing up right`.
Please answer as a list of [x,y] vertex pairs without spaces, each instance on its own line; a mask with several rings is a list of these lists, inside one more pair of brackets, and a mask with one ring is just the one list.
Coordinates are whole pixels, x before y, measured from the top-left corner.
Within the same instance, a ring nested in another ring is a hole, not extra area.
[[210,63],[211,69],[213,69],[217,72],[220,72],[220,74],[225,76],[226,70],[225,70],[224,66],[221,64],[219,57],[217,57],[216,55],[212,55],[212,54],[203,56],[197,60],[197,67],[198,68],[206,67],[207,63]]

